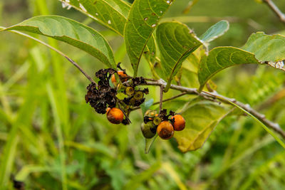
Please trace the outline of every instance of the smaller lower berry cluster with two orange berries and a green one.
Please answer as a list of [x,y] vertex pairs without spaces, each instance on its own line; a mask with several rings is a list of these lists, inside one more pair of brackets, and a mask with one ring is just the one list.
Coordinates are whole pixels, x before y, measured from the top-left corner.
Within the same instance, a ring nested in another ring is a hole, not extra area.
[[144,122],[140,126],[143,136],[147,139],[154,137],[156,133],[162,139],[170,139],[174,131],[181,131],[184,128],[185,119],[172,111],[167,115],[167,110],[161,110],[159,114],[155,110],[147,110]]

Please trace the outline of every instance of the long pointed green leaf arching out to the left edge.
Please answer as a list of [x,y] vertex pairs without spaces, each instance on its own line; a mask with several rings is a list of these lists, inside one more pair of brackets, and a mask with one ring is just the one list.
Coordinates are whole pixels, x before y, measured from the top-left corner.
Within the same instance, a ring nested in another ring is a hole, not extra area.
[[62,16],[36,16],[4,30],[28,31],[64,41],[116,68],[113,51],[105,38],[77,21]]

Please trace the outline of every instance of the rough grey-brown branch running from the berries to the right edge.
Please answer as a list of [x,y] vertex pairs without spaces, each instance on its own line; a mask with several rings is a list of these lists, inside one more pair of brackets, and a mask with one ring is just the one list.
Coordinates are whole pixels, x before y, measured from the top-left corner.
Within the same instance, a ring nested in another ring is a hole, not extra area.
[[[149,81],[144,85],[157,85],[157,86],[163,86],[165,88],[165,83],[163,83],[162,80],[157,80],[157,81]],[[170,85],[170,88],[173,90],[179,90],[180,92],[184,92],[190,95],[202,95],[203,97],[209,97],[209,100],[216,100],[219,99],[219,97],[222,97],[221,102],[229,104],[229,102],[233,102],[234,104],[238,105],[239,107],[242,107],[244,110],[249,112],[250,114],[254,115],[254,117],[257,117],[258,120],[260,120],[264,125],[267,127],[271,128],[275,132],[279,133],[284,139],[285,139],[285,132],[281,129],[279,124],[271,122],[266,119],[264,115],[261,113],[257,112],[256,110],[252,109],[249,105],[246,105],[242,102],[239,102],[237,100],[234,100],[229,97],[224,97],[223,95],[219,95],[218,93],[209,93],[209,92],[204,92],[202,91],[201,93],[198,92],[197,88],[186,88],[183,86],[178,86],[178,85]]]

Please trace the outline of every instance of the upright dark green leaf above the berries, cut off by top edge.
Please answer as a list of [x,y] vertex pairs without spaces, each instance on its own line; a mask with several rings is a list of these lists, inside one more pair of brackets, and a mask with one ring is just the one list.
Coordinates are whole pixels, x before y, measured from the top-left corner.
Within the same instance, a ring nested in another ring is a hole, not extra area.
[[138,73],[138,65],[147,41],[172,1],[136,0],[130,8],[124,36],[135,76]]

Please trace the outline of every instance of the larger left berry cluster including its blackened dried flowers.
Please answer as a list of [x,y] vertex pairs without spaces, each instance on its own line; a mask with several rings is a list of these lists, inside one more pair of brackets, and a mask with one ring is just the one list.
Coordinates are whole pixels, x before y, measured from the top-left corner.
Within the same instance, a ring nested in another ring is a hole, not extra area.
[[[119,81],[116,80],[115,75],[118,75]],[[88,85],[86,103],[89,102],[96,112],[106,113],[107,119],[113,124],[130,124],[128,119],[130,109],[140,106],[145,101],[144,95],[148,94],[148,88],[140,90],[137,87],[144,84],[145,79],[132,78],[125,73],[125,70],[117,71],[113,68],[98,70],[95,76],[99,79],[98,86],[95,83]],[[110,85],[110,82],[114,87]],[[119,99],[118,93],[123,93],[125,97]]]

